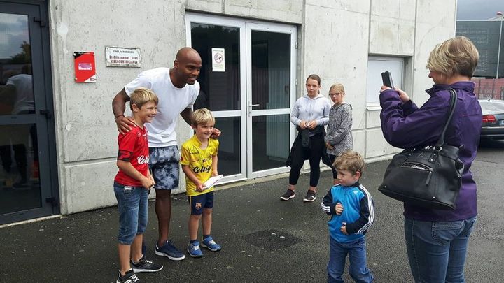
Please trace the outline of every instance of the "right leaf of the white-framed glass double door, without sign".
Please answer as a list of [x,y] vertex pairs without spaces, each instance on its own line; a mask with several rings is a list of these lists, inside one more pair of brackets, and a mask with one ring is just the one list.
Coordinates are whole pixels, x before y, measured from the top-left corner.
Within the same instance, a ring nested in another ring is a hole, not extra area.
[[248,23],[247,156],[248,176],[288,171],[293,140],[290,106],[295,98],[296,28]]

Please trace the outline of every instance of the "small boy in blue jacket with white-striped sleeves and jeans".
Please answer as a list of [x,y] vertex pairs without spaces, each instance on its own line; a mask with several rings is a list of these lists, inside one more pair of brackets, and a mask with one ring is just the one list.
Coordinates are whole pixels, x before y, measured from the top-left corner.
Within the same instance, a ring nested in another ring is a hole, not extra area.
[[333,166],[340,183],[328,191],[321,203],[322,210],[331,216],[328,282],[343,283],[347,254],[353,280],[373,282],[366,264],[365,233],[374,221],[374,207],[370,193],[359,183],[364,159],[349,150],[337,157]]

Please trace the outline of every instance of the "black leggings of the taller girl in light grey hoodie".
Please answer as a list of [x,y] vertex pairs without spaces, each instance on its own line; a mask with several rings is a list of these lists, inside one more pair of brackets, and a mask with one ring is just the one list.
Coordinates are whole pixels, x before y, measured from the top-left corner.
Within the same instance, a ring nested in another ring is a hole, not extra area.
[[292,161],[290,164],[289,184],[297,184],[304,160],[310,162],[310,187],[316,187],[320,179],[320,161],[322,152],[325,150],[323,133],[310,137],[310,146],[303,147],[301,136],[297,136],[290,150]]

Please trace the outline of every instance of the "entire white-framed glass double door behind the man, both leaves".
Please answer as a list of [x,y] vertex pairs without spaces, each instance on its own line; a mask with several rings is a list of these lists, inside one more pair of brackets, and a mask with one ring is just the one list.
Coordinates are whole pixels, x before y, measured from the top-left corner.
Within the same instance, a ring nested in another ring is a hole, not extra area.
[[221,129],[224,181],[286,172],[295,101],[294,26],[186,15],[188,45],[202,57],[195,109]]

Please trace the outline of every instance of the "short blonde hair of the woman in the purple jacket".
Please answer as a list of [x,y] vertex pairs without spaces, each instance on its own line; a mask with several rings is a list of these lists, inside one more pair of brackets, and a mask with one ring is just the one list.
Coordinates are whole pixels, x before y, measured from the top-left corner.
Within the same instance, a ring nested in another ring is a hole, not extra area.
[[478,59],[479,52],[472,41],[456,36],[436,45],[430,52],[426,68],[447,76],[459,74],[471,78]]

